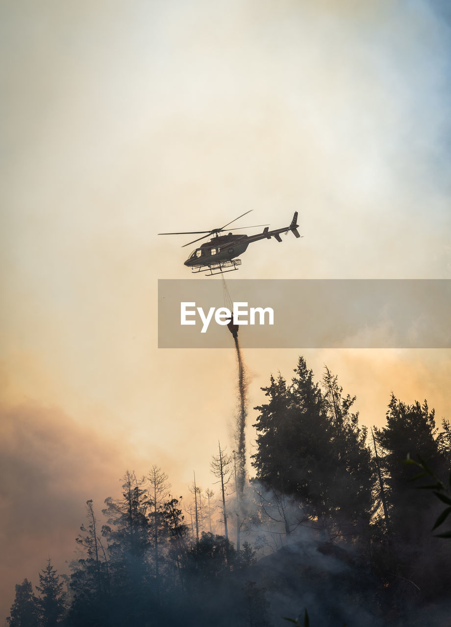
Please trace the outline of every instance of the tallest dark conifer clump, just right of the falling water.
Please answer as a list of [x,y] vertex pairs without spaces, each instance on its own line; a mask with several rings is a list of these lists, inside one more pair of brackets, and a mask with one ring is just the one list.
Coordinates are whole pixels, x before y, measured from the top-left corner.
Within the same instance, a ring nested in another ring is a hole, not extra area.
[[282,376],[271,376],[270,386],[262,388],[268,402],[255,408],[257,479],[277,498],[292,496],[329,535],[355,536],[369,524],[373,485],[366,429],[351,411],[355,397],[343,396],[328,369],[323,392],[304,357],[294,372],[290,386]]

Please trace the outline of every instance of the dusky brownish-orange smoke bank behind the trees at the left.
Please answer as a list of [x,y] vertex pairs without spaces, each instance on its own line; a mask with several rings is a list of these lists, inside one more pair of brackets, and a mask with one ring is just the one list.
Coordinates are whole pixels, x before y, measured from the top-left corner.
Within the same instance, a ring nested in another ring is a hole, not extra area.
[[14,600],[14,584],[33,586],[50,556],[58,572],[77,555],[75,537],[85,522],[85,503],[100,515],[103,500],[119,490],[122,468],[147,469],[123,438],[88,426],[56,406],[27,401],[0,406],[0,620]]

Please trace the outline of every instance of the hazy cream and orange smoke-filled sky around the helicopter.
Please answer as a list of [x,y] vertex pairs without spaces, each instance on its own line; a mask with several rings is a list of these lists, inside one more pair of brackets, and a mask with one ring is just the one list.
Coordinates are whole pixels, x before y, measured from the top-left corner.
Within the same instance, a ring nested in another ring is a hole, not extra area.
[[[232,345],[157,348],[157,280],[190,278],[193,248],[157,233],[299,211],[302,240],[250,246],[238,278],[450,278],[451,16],[427,0],[0,12],[6,615],[49,555],[65,570],[86,500],[100,517],[127,468],[156,463],[186,494],[193,470],[213,483],[218,439],[233,448]],[[252,349],[249,425],[301,352],[363,424],[391,391],[450,418],[449,350]]]

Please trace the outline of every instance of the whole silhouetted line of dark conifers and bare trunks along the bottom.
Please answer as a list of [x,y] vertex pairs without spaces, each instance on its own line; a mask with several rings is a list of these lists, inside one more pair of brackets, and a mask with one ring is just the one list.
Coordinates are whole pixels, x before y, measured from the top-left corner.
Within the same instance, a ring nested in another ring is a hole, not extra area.
[[[255,478],[240,493],[239,516],[233,458],[221,446],[211,465],[220,485],[213,523],[213,491],[195,478],[189,525],[160,468],[143,478],[127,472],[121,497],[105,500],[103,524],[87,502],[76,539],[83,557],[62,577],[66,591],[49,559],[38,596],[27,579],[16,586],[9,625],[265,627],[281,624],[280,599],[296,616],[304,597],[316,624],[341,627],[345,605],[359,608],[355,623],[346,614],[348,626],[441,624],[425,616],[434,608],[442,616],[450,596],[451,542],[432,532],[448,497],[416,489],[418,466],[401,461],[421,455],[434,476],[448,477],[448,421],[439,432],[426,401],[406,405],[392,394],[385,426],[368,433],[355,396],[327,368],[314,382],[303,357],[291,381],[271,376],[262,389]],[[247,538],[240,551],[228,538],[235,519],[237,537]]]

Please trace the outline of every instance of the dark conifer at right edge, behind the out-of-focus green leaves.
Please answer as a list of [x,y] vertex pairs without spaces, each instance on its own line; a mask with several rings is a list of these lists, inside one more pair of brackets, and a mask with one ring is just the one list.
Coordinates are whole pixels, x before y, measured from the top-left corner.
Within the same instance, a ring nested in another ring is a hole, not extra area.
[[386,426],[375,429],[385,475],[391,553],[395,556],[392,570],[396,582],[402,581],[405,594],[410,594],[409,601],[418,596],[418,591],[423,599],[443,595],[446,598],[451,587],[451,546],[433,537],[432,532],[442,504],[432,498],[429,490],[418,490],[417,482],[411,482],[418,467],[402,463],[408,454],[413,460],[420,455],[438,477],[443,476],[448,460],[437,431],[435,413],[427,401],[408,405],[394,394],[388,405]]

